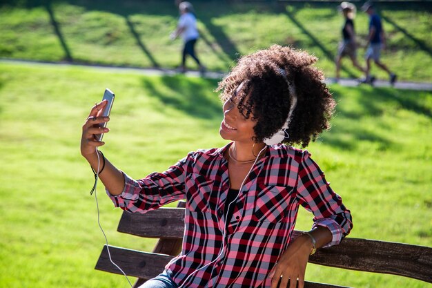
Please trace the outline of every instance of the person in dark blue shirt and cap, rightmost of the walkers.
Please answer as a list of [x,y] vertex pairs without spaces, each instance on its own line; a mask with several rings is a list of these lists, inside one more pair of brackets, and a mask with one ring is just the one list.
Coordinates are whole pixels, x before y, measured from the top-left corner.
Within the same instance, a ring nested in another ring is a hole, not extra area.
[[371,71],[371,59],[375,62],[375,64],[380,67],[382,70],[389,73],[390,84],[395,84],[396,75],[392,73],[389,68],[380,60],[380,52],[381,49],[386,49],[386,39],[384,37],[384,28],[382,26],[382,21],[380,16],[375,13],[373,8],[373,4],[371,2],[366,2],[362,6],[362,10],[369,15],[369,35],[367,39],[367,48],[366,48],[366,73],[365,79],[362,83],[373,84],[375,77],[370,75]]

